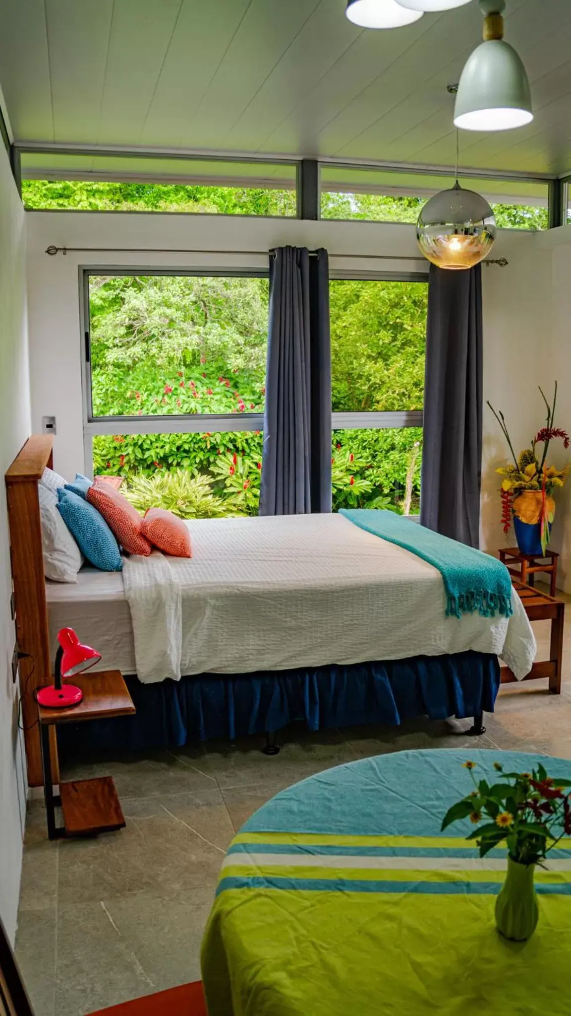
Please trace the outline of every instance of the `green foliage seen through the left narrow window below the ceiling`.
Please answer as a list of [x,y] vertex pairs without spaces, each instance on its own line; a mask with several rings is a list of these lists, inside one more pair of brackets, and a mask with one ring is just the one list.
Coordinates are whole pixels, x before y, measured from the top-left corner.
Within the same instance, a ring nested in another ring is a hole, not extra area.
[[85,180],[22,180],[25,208],[78,211],[176,211],[209,215],[295,216],[295,190],[137,184]]

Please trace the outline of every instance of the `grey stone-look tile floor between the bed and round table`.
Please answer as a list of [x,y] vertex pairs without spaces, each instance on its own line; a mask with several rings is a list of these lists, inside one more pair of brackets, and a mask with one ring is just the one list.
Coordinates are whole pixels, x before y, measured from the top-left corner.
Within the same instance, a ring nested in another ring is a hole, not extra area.
[[[545,658],[549,623],[534,629]],[[571,758],[571,610],[563,689],[560,697],[538,682],[502,690],[478,747]],[[295,725],[281,734],[275,758],[254,738],[68,766],[67,778],[113,774],[127,828],[50,843],[42,805],[29,807],[16,955],[37,1016],[84,1016],[198,979],[220,863],[252,812],[283,787],[353,759],[473,747],[469,726],[423,720],[311,735]]]

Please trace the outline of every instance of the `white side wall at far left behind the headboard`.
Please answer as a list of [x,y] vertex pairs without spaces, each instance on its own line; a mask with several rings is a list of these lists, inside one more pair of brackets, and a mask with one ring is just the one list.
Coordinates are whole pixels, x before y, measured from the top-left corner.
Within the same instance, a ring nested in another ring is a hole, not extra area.
[[[0,472],[30,433],[25,213],[0,144]],[[12,684],[14,624],[4,485],[0,492],[0,915],[13,941],[25,819],[23,744]]]

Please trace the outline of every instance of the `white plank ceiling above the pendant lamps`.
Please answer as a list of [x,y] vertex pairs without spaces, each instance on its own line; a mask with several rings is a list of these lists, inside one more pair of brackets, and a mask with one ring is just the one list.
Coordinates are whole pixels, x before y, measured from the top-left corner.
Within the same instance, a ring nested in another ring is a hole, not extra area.
[[[0,0],[0,84],[17,142],[454,161],[453,100],[477,0],[390,31],[345,0]],[[531,81],[520,130],[463,132],[480,169],[571,171],[571,0],[508,0]]]

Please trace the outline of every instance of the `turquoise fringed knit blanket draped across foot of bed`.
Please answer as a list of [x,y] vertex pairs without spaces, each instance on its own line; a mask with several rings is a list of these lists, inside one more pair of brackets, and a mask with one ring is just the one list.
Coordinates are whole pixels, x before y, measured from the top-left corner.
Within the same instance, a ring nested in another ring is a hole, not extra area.
[[446,590],[448,617],[478,611],[483,618],[511,617],[511,579],[505,565],[472,547],[417,525],[390,511],[342,509],[350,522],[411,551],[438,569]]

